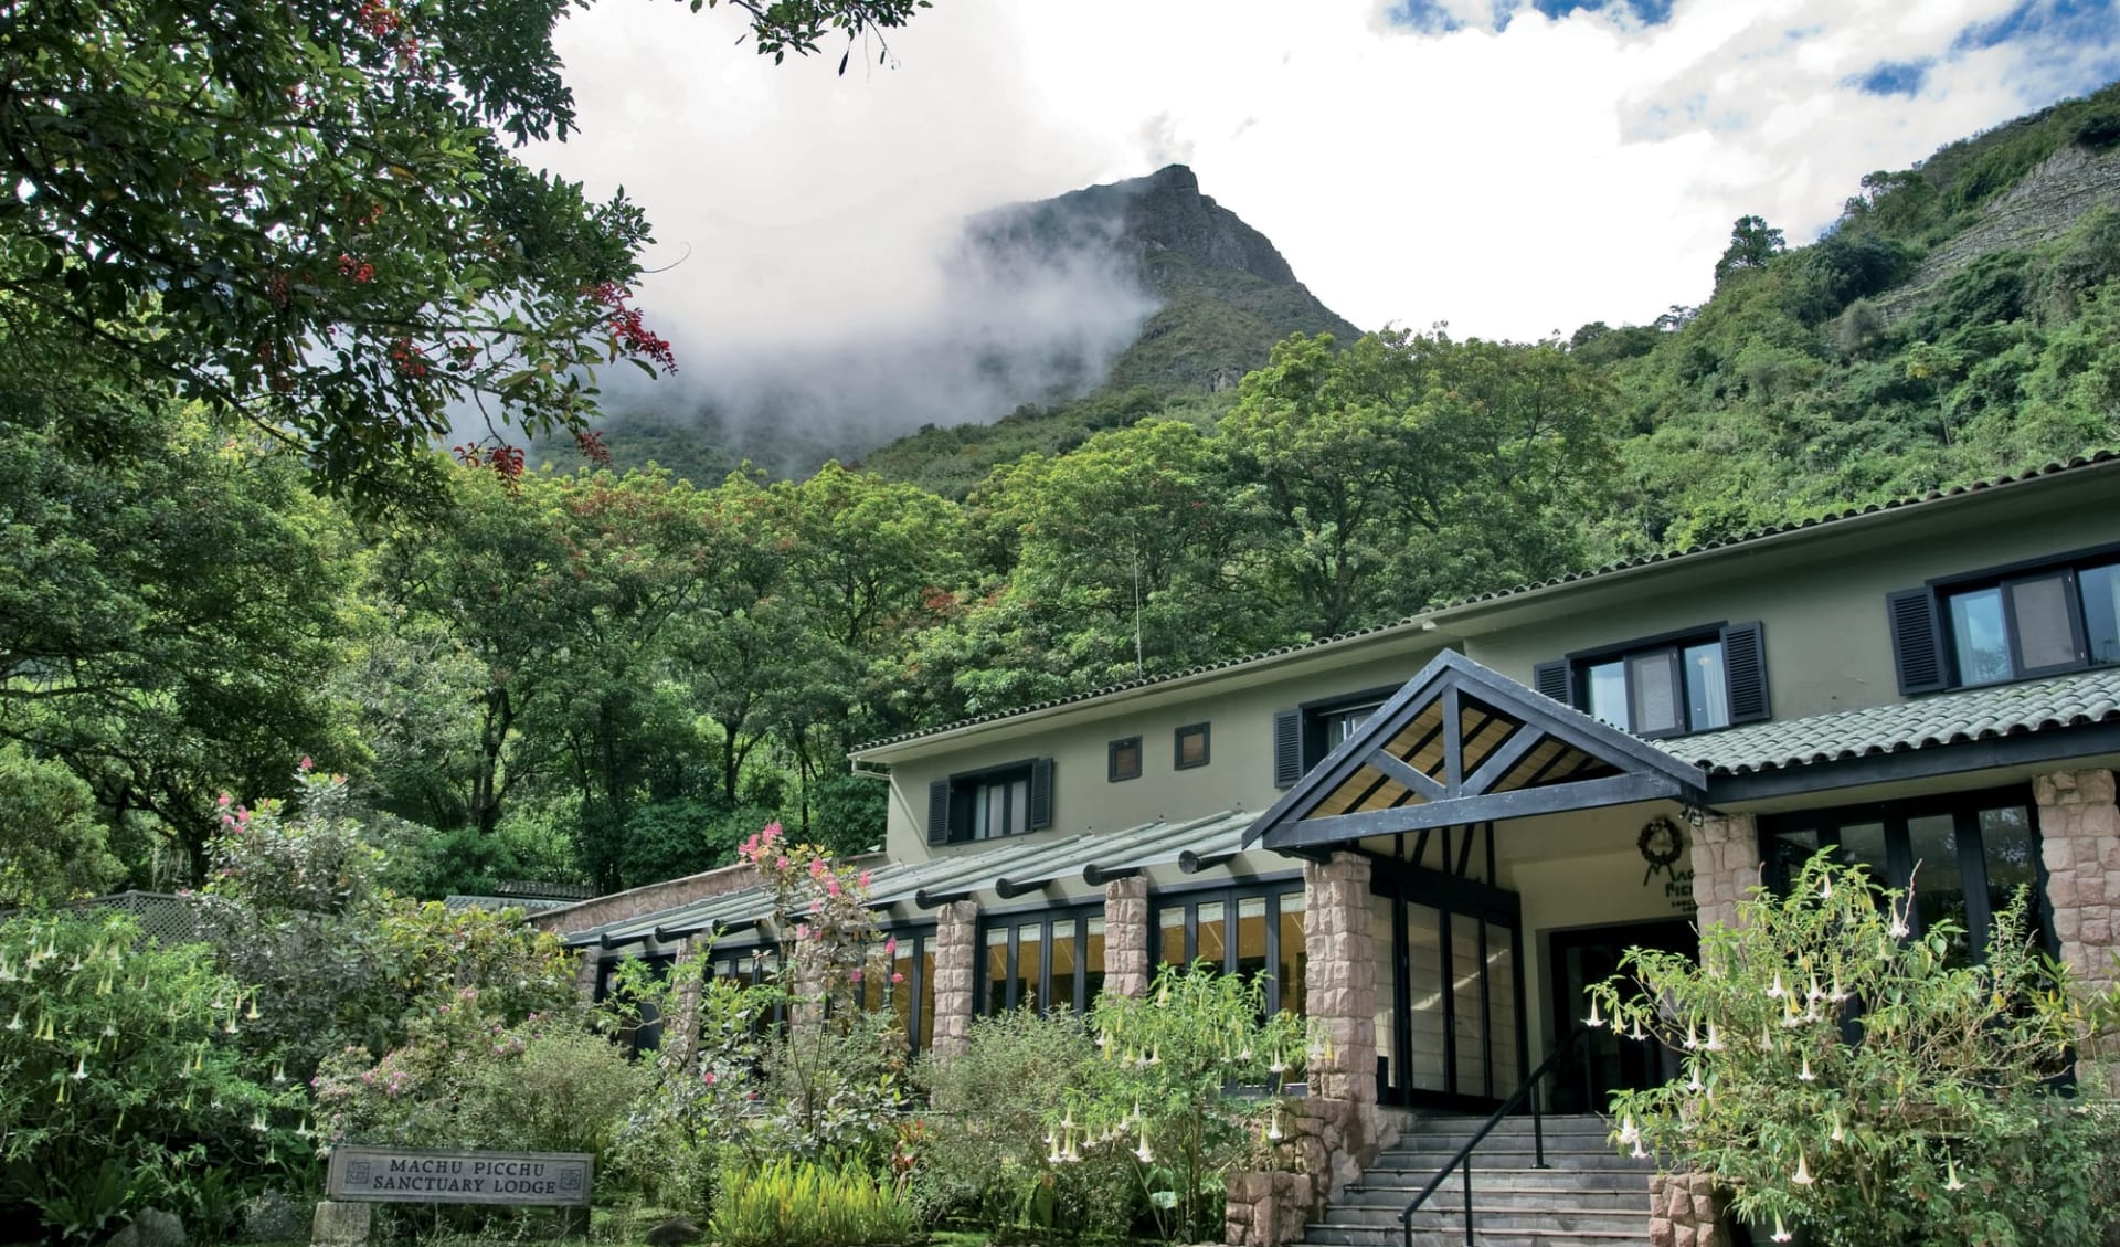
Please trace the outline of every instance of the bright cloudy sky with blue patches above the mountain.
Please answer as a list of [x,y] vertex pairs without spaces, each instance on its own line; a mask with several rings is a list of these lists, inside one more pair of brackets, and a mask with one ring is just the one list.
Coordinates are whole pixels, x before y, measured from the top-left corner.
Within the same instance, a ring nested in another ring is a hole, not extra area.
[[774,68],[723,8],[560,30],[647,206],[681,356],[886,335],[969,212],[1183,161],[1363,329],[1541,337],[1698,303],[1738,214],[1817,235],[1863,172],[2120,78],[2116,0],[935,0]]

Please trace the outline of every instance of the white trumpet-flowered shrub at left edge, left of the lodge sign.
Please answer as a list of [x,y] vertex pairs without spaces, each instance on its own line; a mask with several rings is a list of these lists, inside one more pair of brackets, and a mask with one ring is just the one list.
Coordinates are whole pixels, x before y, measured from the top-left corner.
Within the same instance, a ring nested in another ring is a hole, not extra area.
[[151,944],[129,916],[0,923],[0,1215],[28,1196],[15,1224],[91,1236],[208,1162],[305,1160],[299,1088],[240,1043],[257,1020],[210,950]]

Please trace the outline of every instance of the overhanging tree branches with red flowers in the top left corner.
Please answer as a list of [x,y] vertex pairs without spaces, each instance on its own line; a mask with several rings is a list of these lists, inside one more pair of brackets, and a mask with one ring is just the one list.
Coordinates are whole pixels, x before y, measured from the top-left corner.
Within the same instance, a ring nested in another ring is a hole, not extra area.
[[[852,51],[916,0],[731,6],[780,59],[833,30]],[[566,8],[15,6],[0,322],[19,380],[174,386],[371,500],[430,464],[452,403],[585,428],[598,365],[672,358],[625,293],[640,212],[509,146],[575,129]]]

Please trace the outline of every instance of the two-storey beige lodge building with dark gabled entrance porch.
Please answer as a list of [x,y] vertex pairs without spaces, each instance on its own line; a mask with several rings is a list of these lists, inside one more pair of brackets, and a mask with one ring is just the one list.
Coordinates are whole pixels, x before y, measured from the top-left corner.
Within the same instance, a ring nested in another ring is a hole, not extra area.
[[[1628,946],[1692,950],[1821,846],[1967,954],[2020,886],[2114,976],[2120,458],[1486,594],[1170,677],[878,740],[871,899],[922,1050],[1083,1009],[1155,965],[1270,976],[1333,1039],[1333,1169],[1378,1107],[1505,1099]],[[589,954],[759,973],[736,867],[538,914]],[[1603,1046],[1594,1109],[1658,1077]],[[1338,1107],[1336,1107],[1338,1105]],[[1338,1116],[1336,1116],[1338,1113]]]

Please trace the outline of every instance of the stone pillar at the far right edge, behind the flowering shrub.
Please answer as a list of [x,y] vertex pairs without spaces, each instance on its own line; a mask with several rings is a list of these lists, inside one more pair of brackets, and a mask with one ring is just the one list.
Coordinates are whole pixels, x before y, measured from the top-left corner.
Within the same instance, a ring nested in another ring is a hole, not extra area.
[[[2031,785],[2039,806],[2039,857],[2046,903],[2054,914],[2061,961],[2084,995],[2114,986],[2114,901],[2120,901],[2120,806],[2114,772],[2059,770]],[[2105,1065],[2120,1092],[2120,1050],[2112,1039],[2086,1043],[2084,1056]]]

